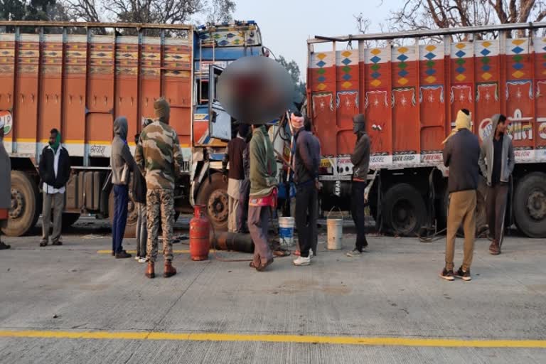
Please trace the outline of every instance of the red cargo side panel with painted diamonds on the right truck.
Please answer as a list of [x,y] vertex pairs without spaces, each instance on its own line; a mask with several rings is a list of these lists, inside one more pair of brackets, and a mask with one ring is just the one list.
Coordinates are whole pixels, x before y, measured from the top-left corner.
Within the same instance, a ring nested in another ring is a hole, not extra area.
[[351,173],[350,118],[358,112],[366,115],[372,168],[441,163],[441,141],[461,108],[472,112],[481,140],[493,114],[507,115],[516,160],[546,159],[544,38],[446,38],[392,48],[361,42],[358,50],[311,53],[308,75],[308,111],[329,173]]

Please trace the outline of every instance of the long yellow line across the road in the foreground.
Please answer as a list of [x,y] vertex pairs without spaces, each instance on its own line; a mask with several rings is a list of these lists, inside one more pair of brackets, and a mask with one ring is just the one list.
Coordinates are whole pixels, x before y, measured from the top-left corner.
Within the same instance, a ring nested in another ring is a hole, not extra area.
[[235,333],[167,333],[148,331],[15,331],[1,330],[4,338],[83,338],[102,340],[233,341],[269,343],[321,343],[360,346],[412,346],[445,348],[546,348],[546,340],[464,340],[449,338],[380,338],[358,336],[252,335]]

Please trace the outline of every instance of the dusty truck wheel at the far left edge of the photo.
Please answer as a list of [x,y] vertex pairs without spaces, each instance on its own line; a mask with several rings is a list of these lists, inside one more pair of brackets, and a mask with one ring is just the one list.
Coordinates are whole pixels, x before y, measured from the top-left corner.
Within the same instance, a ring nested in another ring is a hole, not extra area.
[[25,235],[36,225],[40,210],[36,183],[23,171],[11,171],[11,210],[4,234]]

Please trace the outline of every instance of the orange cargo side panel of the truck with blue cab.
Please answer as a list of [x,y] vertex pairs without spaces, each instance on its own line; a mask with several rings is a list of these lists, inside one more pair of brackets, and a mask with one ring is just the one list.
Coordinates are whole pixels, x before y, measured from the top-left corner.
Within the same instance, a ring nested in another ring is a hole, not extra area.
[[189,148],[191,45],[191,37],[141,37],[139,44],[137,36],[68,35],[63,42],[63,35],[1,34],[0,112],[13,116],[6,148],[38,157],[57,128],[70,155],[92,165],[92,158],[109,158],[114,118],[127,117],[134,145],[141,117],[154,117],[161,95]]

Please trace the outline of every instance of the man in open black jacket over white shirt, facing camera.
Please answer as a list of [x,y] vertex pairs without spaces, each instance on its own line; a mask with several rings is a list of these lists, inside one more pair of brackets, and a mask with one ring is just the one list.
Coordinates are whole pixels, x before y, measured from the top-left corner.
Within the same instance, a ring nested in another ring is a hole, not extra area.
[[63,245],[60,230],[63,223],[63,208],[65,207],[65,186],[70,178],[70,156],[68,151],[60,145],[60,132],[57,129],[51,129],[49,145],[42,151],[38,173],[43,181],[42,240],[40,246],[45,247],[49,243],[52,208],[53,236],[51,237],[51,244]]

